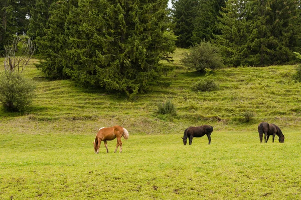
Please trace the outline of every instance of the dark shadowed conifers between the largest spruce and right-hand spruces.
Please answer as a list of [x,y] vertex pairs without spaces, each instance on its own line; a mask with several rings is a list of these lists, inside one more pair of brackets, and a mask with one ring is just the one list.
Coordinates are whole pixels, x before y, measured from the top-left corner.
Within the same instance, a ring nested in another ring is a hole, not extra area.
[[187,48],[203,40],[210,41],[224,0],[173,0],[173,28],[177,46]]

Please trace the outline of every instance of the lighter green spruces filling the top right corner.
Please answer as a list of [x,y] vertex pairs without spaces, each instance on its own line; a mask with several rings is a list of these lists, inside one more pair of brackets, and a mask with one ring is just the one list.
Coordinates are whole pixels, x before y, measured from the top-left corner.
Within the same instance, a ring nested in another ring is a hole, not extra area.
[[265,66],[294,60],[299,49],[299,2],[228,0],[216,35],[225,64]]

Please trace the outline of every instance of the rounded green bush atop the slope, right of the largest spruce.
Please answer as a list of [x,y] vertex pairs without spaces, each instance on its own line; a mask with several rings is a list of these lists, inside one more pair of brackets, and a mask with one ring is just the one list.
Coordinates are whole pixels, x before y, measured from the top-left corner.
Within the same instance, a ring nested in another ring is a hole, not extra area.
[[210,42],[201,42],[184,53],[181,61],[198,72],[205,71],[205,68],[215,69],[222,67],[222,57],[218,47]]

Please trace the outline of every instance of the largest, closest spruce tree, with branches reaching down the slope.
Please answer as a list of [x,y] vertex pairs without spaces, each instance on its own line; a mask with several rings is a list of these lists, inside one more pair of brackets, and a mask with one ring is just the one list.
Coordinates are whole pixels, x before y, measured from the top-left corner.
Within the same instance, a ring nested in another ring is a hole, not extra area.
[[[167,0],[80,0],[67,20],[64,72],[78,82],[135,95],[174,50]],[[77,16],[77,18],[75,17]]]

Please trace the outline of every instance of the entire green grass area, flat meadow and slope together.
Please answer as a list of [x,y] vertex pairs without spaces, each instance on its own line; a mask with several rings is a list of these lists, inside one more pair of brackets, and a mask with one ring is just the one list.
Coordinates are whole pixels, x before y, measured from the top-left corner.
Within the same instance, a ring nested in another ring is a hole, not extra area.
[[[33,63],[24,71],[37,85],[28,112],[0,110],[0,199],[300,199],[301,83],[294,65],[212,71],[219,89],[194,92],[205,74],[181,64],[161,80],[170,86],[129,100],[71,80],[47,80]],[[0,71],[3,70],[0,58]],[[177,115],[162,115],[171,99]],[[243,114],[254,116],[245,122]],[[277,124],[285,135],[260,143],[257,125]],[[94,154],[99,127],[129,131],[123,152],[116,140]],[[214,127],[183,145],[188,126]]]

